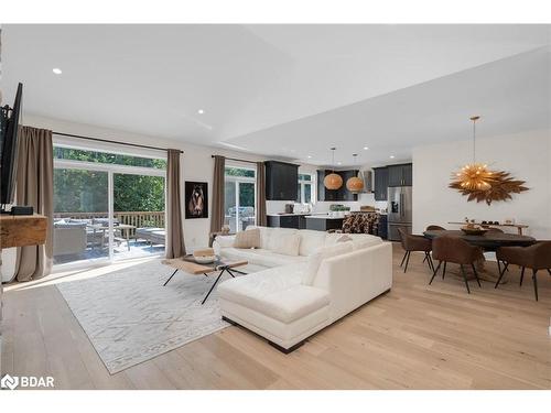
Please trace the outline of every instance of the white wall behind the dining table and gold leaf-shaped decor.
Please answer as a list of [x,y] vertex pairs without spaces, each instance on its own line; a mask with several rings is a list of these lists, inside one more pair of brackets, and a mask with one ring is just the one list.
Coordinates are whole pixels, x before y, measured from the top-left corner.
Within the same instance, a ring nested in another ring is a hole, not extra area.
[[528,131],[477,139],[477,160],[489,169],[506,171],[526,181],[530,189],[507,202],[467,202],[447,187],[452,172],[472,161],[472,141],[432,144],[413,149],[413,231],[430,225],[457,228],[449,221],[515,218],[529,225],[525,233],[551,239],[551,131]]

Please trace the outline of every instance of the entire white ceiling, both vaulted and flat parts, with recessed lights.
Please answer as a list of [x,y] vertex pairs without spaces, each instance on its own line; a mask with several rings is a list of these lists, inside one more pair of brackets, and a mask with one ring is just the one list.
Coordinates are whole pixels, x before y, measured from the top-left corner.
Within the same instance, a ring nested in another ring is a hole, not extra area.
[[549,121],[550,43],[549,25],[3,25],[1,85],[24,83],[29,113],[386,162],[468,137],[473,113],[480,134]]

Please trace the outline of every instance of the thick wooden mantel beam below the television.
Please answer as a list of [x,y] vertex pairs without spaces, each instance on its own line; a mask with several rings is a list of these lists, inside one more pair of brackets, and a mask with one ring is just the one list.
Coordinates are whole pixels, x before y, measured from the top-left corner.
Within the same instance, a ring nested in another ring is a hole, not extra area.
[[2,249],[40,246],[46,241],[46,230],[47,218],[43,215],[0,215],[0,360],[2,359]]

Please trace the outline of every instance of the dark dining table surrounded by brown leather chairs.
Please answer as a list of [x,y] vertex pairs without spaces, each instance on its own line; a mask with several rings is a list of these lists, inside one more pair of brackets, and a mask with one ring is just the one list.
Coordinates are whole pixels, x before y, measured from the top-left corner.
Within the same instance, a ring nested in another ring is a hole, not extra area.
[[[486,231],[480,235],[467,235],[462,230],[431,229],[424,231],[423,236],[429,239],[434,239],[437,237],[461,238],[472,246],[480,247],[485,252],[495,252],[500,247],[528,247],[536,242],[536,238],[533,237],[493,230]],[[499,278],[499,274],[497,272],[488,271],[485,268],[484,261],[476,262],[476,269],[478,271],[480,280],[496,282]],[[460,276],[458,273],[457,276]],[[501,279],[501,284],[506,282],[507,276],[504,276]]]

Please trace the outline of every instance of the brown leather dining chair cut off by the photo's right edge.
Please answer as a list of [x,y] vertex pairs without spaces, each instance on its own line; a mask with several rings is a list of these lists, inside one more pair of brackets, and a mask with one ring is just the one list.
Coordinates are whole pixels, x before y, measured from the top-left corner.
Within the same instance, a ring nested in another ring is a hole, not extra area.
[[533,294],[536,301],[538,301],[538,271],[548,270],[551,275],[551,241],[538,241],[530,247],[501,247],[497,250],[496,257],[498,262],[504,261],[505,265],[499,273],[495,289],[501,282],[509,264],[517,264],[522,267],[522,270],[520,270],[520,285],[522,285],[525,270],[527,268],[532,270]]

